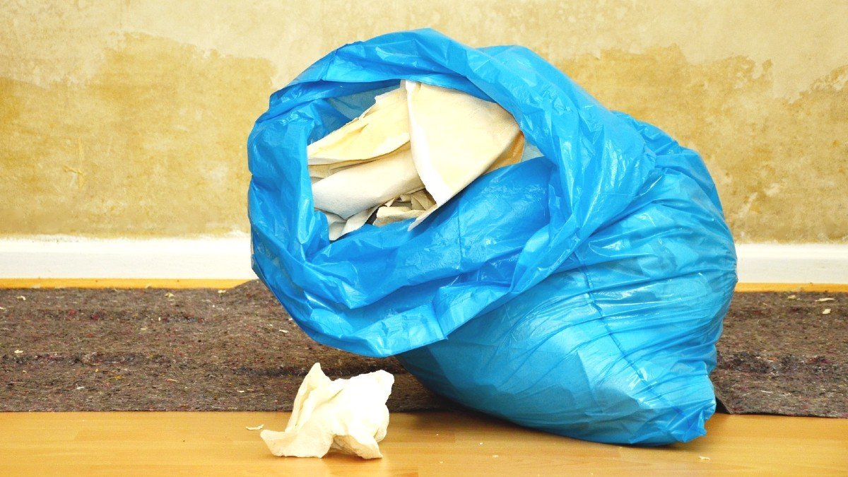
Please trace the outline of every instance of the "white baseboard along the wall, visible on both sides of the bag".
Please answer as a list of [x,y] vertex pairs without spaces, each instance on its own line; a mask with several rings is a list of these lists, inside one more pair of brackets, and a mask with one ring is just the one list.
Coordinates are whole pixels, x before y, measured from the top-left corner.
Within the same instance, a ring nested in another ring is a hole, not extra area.
[[[848,283],[848,244],[739,244],[740,283]],[[250,239],[0,239],[0,278],[256,278]]]

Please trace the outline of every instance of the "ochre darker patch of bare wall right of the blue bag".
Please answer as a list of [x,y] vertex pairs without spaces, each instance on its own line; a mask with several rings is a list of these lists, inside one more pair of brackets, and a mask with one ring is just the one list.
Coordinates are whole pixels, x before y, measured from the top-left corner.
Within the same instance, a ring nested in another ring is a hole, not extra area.
[[[741,242],[848,242],[848,65],[794,100],[745,57],[689,64],[677,47],[557,64],[601,103],[697,150]],[[626,87],[622,87],[626,85]]]

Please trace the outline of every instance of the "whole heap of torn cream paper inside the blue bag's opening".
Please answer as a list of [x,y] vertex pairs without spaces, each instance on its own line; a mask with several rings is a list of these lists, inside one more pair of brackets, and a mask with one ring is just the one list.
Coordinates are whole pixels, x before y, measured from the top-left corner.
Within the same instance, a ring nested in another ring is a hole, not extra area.
[[326,213],[335,240],[374,210],[377,226],[415,217],[416,227],[477,177],[518,162],[523,150],[516,121],[498,104],[401,81],[307,152],[315,208]]

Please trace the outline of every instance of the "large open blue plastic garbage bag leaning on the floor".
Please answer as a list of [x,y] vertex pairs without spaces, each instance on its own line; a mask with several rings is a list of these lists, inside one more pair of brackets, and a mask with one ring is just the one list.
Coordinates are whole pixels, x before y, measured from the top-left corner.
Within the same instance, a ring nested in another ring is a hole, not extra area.
[[[500,104],[538,157],[412,231],[331,242],[306,146],[401,79]],[[396,355],[438,394],[535,429],[642,445],[705,434],[736,283],[715,185],[694,151],[535,53],[432,30],[345,45],[271,96],[248,157],[254,271],[314,340]]]

